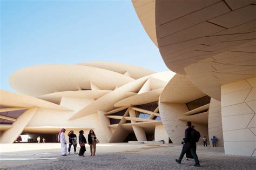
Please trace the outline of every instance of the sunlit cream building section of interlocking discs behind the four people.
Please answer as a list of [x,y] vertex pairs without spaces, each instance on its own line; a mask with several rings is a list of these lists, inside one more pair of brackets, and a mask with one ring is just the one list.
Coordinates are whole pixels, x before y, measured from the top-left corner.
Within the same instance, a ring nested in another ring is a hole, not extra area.
[[19,93],[1,90],[1,142],[12,143],[20,134],[55,142],[65,128],[93,129],[101,142],[168,143],[158,99],[174,74],[111,62],[17,70],[9,82]]

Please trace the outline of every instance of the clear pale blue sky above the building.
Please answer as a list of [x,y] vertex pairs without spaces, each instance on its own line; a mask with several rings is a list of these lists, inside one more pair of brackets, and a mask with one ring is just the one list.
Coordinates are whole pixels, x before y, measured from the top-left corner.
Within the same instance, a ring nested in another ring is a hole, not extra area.
[[1,89],[39,64],[112,61],[167,71],[131,1],[1,1]]

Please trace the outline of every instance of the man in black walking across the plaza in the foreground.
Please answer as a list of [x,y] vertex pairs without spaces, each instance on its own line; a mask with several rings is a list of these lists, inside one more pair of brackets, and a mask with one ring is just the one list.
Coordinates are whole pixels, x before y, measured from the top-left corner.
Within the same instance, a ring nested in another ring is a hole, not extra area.
[[181,160],[184,157],[184,154],[190,150],[191,154],[194,157],[194,161],[196,162],[194,166],[200,166],[197,153],[196,153],[197,144],[196,142],[193,141],[193,137],[191,136],[191,131],[193,130],[193,128],[191,127],[191,121],[188,121],[186,126],[187,128],[185,130],[184,145],[180,153],[179,159],[176,159],[176,162],[180,164]]

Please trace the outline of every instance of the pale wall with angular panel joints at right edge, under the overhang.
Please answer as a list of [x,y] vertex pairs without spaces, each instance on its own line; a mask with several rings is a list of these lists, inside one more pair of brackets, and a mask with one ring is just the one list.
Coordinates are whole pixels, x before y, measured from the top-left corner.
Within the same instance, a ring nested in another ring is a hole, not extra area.
[[256,78],[221,86],[225,154],[256,157]]

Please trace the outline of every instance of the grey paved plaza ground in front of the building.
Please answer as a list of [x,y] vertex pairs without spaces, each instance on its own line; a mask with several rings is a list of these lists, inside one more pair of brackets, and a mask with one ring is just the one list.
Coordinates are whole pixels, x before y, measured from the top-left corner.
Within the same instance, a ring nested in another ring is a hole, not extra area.
[[[223,147],[197,147],[201,167],[194,167],[194,160],[185,160],[180,165],[175,159],[181,146],[99,144],[95,157],[90,156],[86,146],[86,157],[71,154],[60,155],[59,144],[1,144],[0,167],[4,169],[254,169],[256,159],[224,154]],[[13,145],[14,147],[11,147]],[[22,147],[21,147],[22,146]],[[12,152],[3,152],[5,147]],[[15,148],[39,148],[39,150],[13,152]],[[44,149],[46,148],[46,149]],[[48,149],[51,148],[51,149]],[[242,148],[241,148],[242,149]],[[79,148],[78,148],[79,150]]]

